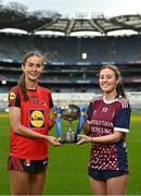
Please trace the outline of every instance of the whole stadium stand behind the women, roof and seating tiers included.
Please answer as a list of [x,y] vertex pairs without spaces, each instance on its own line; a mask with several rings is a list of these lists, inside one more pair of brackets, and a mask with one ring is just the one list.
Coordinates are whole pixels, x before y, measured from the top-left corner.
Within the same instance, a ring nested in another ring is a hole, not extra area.
[[[3,32],[8,27],[26,33]],[[29,50],[38,50],[46,57],[40,83],[53,94],[65,94],[68,100],[67,93],[82,93],[76,97],[89,99],[89,96],[101,93],[98,85],[100,66],[116,64],[133,100],[132,106],[139,108],[136,101],[141,96],[141,15],[64,19],[60,13],[28,13],[24,5],[13,3],[0,7],[0,93],[8,93],[17,84],[22,57]],[[110,32],[117,29],[132,29],[137,35],[108,36]],[[53,34],[38,35],[38,30],[52,30]],[[72,36],[74,32],[84,30],[99,32],[101,36]],[[82,102],[86,105],[86,100]]]

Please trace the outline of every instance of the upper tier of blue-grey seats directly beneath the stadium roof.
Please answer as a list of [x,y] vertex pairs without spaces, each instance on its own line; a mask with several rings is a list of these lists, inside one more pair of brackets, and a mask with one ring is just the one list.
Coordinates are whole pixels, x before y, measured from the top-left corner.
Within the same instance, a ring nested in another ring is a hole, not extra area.
[[39,50],[48,65],[140,64],[141,35],[126,37],[40,37],[0,34],[0,61],[21,63],[29,50]]

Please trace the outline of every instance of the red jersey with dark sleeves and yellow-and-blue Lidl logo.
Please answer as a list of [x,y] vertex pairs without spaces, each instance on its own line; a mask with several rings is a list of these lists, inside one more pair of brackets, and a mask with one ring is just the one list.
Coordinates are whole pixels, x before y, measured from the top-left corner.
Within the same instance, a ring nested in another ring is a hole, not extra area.
[[[21,108],[21,124],[37,133],[48,135],[49,109],[53,107],[51,91],[38,86],[36,90],[27,90],[29,100],[25,101],[15,86],[9,95],[9,107]],[[13,127],[14,128],[14,127]],[[48,142],[18,135],[11,127],[10,156],[28,160],[48,158]]]

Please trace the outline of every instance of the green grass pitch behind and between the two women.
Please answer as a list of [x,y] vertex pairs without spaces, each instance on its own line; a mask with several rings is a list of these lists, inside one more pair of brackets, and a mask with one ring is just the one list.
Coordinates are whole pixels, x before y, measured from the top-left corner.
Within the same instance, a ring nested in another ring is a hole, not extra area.
[[[74,130],[76,123],[74,122]],[[62,123],[62,130],[68,128],[68,123]],[[50,132],[55,134],[55,127]],[[7,160],[9,156],[10,123],[8,114],[0,113],[0,195],[10,195],[9,172]],[[92,195],[87,175],[87,160],[90,145],[62,145],[49,147],[50,161],[48,168],[44,195]],[[132,112],[130,133],[127,134],[129,158],[129,182],[127,195],[141,194],[141,112]]]

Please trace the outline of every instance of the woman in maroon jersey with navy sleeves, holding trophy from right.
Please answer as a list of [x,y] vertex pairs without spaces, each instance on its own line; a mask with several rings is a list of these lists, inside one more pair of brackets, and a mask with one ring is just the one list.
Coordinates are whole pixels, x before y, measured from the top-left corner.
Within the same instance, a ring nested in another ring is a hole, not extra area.
[[90,101],[85,135],[79,135],[77,145],[92,145],[88,162],[92,193],[125,195],[129,175],[126,133],[129,132],[131,109],[117,66],[102,66],[99,84],[103,96]]

